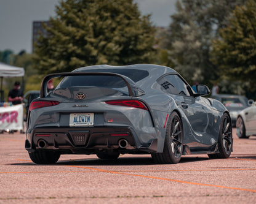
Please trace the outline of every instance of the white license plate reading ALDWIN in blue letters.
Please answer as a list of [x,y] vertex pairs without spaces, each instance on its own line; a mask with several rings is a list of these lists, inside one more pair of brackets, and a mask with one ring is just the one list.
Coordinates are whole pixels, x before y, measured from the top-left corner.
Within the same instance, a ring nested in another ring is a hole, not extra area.
[[70,113],[70,126],[93,126],[94,113]]

